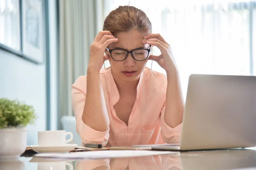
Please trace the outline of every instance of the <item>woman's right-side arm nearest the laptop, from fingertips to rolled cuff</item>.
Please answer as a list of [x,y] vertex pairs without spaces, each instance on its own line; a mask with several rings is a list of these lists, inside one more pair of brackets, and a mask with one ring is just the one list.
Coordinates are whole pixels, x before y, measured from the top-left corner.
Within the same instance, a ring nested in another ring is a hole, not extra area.
[[155,45],[161,51],[159,56],[150,55],[149,59],[156,61],[167,74],[166,103],[161,111],[162,136],[167,143],[177,143],[180,141],[184,101],[172,49],[160,34],[148,34],[144,38],[143,43]]

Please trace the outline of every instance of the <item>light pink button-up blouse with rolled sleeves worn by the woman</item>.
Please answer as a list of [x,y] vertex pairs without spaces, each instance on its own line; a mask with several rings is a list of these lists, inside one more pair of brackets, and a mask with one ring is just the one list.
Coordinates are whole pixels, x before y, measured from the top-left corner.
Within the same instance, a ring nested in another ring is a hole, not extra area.
[[180,142],[182,124],[172,128],[164,121],[167,88],[164,74],[145,68],[137,86],[128,126],[118,118],[113,108],[119,100],[119,92],[111,69],[102,69],[99,77],[110,120],[109,129],[105,132],[94,130],[81,119],[86,99],[86,76],[80,76],[72,85],[76,130],[84,143],[102,143],[111,147]]

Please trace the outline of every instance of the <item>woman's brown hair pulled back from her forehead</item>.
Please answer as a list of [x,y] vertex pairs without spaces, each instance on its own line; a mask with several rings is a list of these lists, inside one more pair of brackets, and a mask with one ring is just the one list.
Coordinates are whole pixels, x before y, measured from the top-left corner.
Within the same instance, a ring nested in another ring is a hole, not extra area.
[[113,35],[122,31],[138,30],[143,34],[151,34],[152,26],[145,12],[134,6],[119,6],[106,17],[103,31]]

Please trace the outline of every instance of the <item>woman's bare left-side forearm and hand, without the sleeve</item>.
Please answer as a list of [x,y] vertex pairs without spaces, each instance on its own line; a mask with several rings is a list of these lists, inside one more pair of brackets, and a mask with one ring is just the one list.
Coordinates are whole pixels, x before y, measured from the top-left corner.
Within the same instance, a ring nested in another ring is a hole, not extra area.
[[109,128],[109,118],[99,79],[99,70],[109,56],[104,56],[106,47],[118,40],[110,31],[99,31],[90,46],[90,60],[87,68],[87,94],[82,115],[83,122],[95,130],[104,132]]

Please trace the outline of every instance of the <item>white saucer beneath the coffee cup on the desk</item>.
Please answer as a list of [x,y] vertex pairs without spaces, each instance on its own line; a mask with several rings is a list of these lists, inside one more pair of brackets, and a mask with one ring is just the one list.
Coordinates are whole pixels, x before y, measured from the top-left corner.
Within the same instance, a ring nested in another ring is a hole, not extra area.
[[77,144],[65,144],[62,146],[30,146],[32,150],[38,153],[49,153],[49,152],[69,152],[76,148]]

